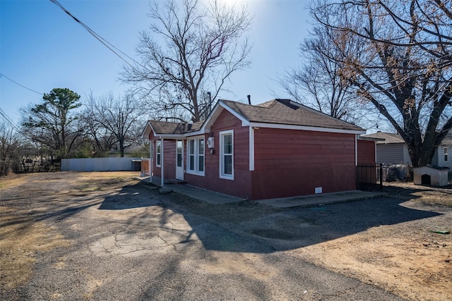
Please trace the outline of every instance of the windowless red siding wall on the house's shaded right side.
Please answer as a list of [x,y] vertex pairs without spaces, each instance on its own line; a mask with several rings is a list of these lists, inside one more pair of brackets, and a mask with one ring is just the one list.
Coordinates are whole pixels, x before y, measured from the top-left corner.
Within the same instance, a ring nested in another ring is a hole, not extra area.
[[355,190],[355,135],[260,128],[253,199]]

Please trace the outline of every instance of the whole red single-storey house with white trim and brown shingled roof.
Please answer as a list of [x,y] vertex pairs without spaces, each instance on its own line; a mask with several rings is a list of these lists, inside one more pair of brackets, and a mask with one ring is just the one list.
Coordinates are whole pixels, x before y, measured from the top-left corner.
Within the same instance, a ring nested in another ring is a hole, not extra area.
[[148,121],[150,173],[244,199],[356,189],[375,162],[362,128],[288,99],[256,106],[220,100],[205,121]]

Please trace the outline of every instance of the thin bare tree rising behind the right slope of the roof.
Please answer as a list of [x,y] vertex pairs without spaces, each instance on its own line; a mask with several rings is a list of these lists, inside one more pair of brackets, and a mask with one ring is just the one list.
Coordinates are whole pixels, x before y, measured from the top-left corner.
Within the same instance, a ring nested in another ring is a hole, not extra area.
[[364,104],[340,77],[338,61],[343,54],[330,47],[333,39],[332,30],[315,26],[300,44],[301,63],[286,70],[278,82],[300,104],[357,124]]

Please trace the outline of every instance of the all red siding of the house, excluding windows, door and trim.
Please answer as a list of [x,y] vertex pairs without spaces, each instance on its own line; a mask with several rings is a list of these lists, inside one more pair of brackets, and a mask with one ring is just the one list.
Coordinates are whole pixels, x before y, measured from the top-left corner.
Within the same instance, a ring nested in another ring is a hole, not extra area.
[[[220,178],[222,130],[234,130],[234,180]],[[249,127],[243,127],[238,118],[223,110],[210,131],[205,139],[213,135],[214,152],[211,154],[206,145],[204,176],[184,173],[189,185],[244,199],[313,195],[317,187],[323,193],[356,189],[353,134],[260,128],[254,131],[254,171],[249,171]],[[359,143],[360,162],[375,161],[373,143]],[[175,140],[165,140],[164,149],[165,178],[175,178]],[[160,176],[155,157],[154,143],[153,170],[155,176]],[[186,162],[184,141],[184,169]]]

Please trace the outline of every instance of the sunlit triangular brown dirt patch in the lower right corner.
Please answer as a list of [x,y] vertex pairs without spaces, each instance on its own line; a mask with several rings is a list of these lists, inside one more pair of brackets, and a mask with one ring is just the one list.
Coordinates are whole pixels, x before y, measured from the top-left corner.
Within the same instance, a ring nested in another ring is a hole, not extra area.
[[[311,245],[297,254],[332,271],[379,285],[410,300],[448,300],[451,288],[450,237],[403,233],[414,226],[380,226]],[[414,229],[412,229],[414,230]]]

